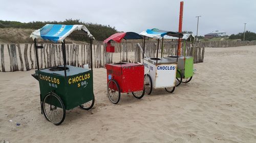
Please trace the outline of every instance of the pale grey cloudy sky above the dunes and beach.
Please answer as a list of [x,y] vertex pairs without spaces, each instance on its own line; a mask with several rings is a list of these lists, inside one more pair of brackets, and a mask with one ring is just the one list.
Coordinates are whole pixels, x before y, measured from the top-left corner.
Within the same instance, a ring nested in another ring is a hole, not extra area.
[[[80,19],[115,26],[118,31],[140,33],[147,28],[178,31],[180,1],[170,0],[1,0],[0,19],[11,21],[63,21]],[[224,31],[228,35],[256,32],[256,1],[184,0],[183,28],[198,35]]]

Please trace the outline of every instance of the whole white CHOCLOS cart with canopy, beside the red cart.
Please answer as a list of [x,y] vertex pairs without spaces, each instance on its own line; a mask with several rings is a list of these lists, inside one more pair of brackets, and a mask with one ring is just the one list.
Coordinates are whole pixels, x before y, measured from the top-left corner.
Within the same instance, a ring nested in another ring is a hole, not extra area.
[[[173,36],[173,37],[182,37],[181,33],[177,32],[168,32],[158,30],[156,28],[152,30],[146,30],[140,33],[144,36],[144,46],[143,52],[145,50],[145,38],[150,37],[158,39],[157,45],[157,57],[153,58],[143,58],[144,64],[144,85],[145,93],[150,95],[152,89],[165,88],[169,93],[173,93],[175,90],[176,83],[176,74],[177,74],[177,59],[172,60],[168,58],[158,58],[158,49],[159,49],[159,39],[163,39],[164,35]],[[144,54],[143,54],[144,55]]]

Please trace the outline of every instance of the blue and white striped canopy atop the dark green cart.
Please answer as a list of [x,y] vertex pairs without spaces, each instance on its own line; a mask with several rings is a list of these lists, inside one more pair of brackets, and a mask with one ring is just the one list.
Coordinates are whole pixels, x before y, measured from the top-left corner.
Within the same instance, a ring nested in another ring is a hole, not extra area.
[[61,25],[61,24],[46,24],[39,30],[34,31],[30,37],[34,40],[40,38],[44,40],[50,40],[53,42],[63,42],[74,31],[83,31],[83,35],[88,35],[93,38],[93,35],[84,25]]

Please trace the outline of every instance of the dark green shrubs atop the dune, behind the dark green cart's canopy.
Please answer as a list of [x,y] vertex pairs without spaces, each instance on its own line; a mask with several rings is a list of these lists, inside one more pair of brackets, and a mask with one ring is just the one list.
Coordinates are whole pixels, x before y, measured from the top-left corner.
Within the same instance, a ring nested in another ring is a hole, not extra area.
[[[103,41],[112,34],[117,33],[115,26],[102,25],[98,23],[82,22],[79,19],[66,19],[65,21],[32,21],[32,22],[18,22],[18,21],[3,21],[0,20],[0,28],[29,28],[29,29],[39,29],[46,24],[82,24],[85,25],[90,33],[98,41]],[[71,35],[70,38],[75,41],[89,41],[89,38],[79,35]]]

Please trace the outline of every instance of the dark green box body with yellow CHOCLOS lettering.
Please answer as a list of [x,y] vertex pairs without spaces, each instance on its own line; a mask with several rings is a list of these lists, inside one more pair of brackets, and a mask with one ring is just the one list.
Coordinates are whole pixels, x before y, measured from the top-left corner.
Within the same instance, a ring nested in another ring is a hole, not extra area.
[[40,98],[44,99],[47,93],[54,92],[69,110],[93,99],[93,72],[89,69],[67,67],[67,78],[63,71],[49,69],[36,71],[36,74],[39,77]]

